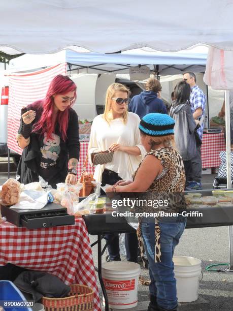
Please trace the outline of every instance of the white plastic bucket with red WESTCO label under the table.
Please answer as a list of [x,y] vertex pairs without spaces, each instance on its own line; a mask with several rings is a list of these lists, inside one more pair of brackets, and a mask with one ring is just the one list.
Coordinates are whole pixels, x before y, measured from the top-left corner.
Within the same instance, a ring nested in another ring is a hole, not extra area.
[[134,262],[110,261],[102,265],[103,281],[111,308],[127,309],[138,304],[139,274],[140,265]]

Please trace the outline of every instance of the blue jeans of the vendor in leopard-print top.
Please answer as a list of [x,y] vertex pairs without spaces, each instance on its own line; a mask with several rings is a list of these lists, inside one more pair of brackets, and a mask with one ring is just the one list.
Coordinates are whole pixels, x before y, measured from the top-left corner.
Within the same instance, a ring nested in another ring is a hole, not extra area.
[[157,304],[164,309],[173,309],[177,306],[176,279],[174,276],[173,254],[186,223],[159,223],[161,230],[161,262],[154,262],[155,237],[154,223],[142,223],[142,237],[149,261],[151,284],[150,294],[157,296]]

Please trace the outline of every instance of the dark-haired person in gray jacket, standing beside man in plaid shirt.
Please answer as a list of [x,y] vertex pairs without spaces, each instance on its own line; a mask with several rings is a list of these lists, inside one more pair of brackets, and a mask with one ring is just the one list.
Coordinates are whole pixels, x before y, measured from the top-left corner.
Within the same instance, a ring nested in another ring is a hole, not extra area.
[[197,126],[189,103],[190,85],[185,81],[179,82],[175,87],[174,96],[175,102],[170,110],[170,116],[175,120],[175,144],[183,159],[187,180],[191,159],[196,155],[194,130]]

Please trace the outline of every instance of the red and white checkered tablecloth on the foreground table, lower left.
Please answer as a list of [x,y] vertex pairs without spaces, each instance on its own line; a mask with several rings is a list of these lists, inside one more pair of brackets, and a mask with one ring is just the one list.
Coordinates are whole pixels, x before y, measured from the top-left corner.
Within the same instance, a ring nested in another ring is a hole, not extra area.
[[94,310],[101,311],[88,232],[82,218],[73,226],[26,229],[0,224],[0,265],[12,263],[46,271],[65,284],[82,284],[94,290]]

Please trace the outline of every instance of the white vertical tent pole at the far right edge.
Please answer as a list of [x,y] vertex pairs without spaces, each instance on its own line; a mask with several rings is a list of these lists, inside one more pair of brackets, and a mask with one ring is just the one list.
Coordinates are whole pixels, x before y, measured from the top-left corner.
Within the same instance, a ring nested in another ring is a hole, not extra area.
[[[230,92],[225,90],[225,121],[226,121],[226,173],[227,189],[231,189],[231,165],[230,165]],[[229,267],[226,271],[233,271],[233,226],[229,226]]]

